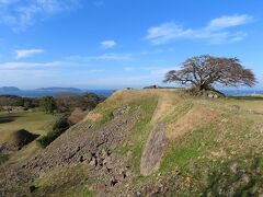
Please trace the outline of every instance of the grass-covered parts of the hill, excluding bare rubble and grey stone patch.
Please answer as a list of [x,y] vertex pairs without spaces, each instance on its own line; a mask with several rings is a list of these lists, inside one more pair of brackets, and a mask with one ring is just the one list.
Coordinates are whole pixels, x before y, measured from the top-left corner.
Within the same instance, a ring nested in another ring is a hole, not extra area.
[[[114,150],[132,155],[132,182],[112,195],[169,188],[167,196],[259,196],[263,194],[263,100],[191,97],[180,91],[141,90],[114,93],[98,105],[82,125],[100,128],[115,108],[140,108],[127,142]],[[158,123],[167,125],[169,147],[158,172],[141,176],[140,158]],[[80,125],[79,124],[79,125]],[[50,172],[35,182],[35,194],[93,196],[95,175],[88,165]],[[144,193],[142,193],[144,194]]]

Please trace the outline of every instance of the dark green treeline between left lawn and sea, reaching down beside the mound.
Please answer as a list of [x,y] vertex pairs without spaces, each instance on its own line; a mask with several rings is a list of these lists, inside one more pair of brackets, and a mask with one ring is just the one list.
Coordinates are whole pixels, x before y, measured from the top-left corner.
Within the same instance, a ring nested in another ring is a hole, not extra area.
[[4,107],[24,107],[24,109],[37,108],[46,114],[56,116],[56,123],[47,135],[39,137],[37,143],[46,148],[70,126],[79,123],[84,118],[89,111],[93,109],[105,97],[94,93],[85,93],[83,95],[60,94],[58,96],[44,97],[20,97],[13,95],[0,96],[0,108]]

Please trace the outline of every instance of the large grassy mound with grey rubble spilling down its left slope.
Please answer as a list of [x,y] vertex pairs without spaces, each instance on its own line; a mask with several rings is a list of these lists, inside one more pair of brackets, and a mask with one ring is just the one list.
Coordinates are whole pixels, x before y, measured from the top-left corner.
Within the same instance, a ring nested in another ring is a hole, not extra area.
[[5,161],[0,184],[32,196],[258,196],[262,149],[263,99],[118,91],[46,149]]

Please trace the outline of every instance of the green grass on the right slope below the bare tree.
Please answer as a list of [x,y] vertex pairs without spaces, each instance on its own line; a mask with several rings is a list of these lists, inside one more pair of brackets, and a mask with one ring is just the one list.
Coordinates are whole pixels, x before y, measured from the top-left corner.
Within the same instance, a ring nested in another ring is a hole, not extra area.
[[[176,196],[258,196],[263,183],[263,123],[262,115],[253,115],[247,109],[262,109],[263,101],[227,99],[196,102],[221,111],[221,117],[207,127],[195,128],[174,139],[160,172],[172,179],[171,184],[178,185],[174,187]],[[233,104],[238,104],[240,109],[232,111],[229,106]],[[224,154],[211,155],[211,152],[220,151]],[[235,163],[238,172],[230,170]],[[175,169],[181,175],[169,175]],[[184,183],[186,177],[190,185]]]

